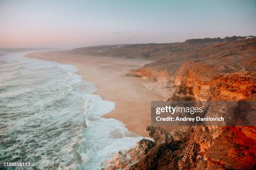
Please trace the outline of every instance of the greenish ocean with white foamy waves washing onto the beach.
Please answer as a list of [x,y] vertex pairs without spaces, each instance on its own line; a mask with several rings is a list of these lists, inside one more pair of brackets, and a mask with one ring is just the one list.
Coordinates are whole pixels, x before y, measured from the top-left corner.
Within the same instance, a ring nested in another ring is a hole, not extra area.
[[142,139],[119,120],[102,117],[115,103],[94,95],[95,85],[74,66],[24,57],[29,52],[0,49],[1,164],[100,170]]

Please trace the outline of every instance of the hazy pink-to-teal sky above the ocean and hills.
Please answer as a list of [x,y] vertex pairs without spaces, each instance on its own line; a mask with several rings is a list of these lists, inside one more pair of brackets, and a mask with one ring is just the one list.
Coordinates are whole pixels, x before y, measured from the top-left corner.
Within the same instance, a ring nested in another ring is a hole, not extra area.
[[0,47],[256,35],[256,0],[0,0]]

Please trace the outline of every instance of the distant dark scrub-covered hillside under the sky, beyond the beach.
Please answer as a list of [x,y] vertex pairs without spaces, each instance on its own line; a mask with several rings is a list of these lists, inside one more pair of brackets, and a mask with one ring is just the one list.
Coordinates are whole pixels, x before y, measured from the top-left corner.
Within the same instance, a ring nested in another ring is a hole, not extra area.
[[[185,42],[175,43],[148,43],[148,44],[121,44],[121,45],[100,45],[73,49],[70,52],[81,55],[124,57],[131,59],[159,60],[161,58],[171,59],[177,55],[196,58],[211,55],[217,51],[225,51],[226,46],[232,43],[245,50],[252,43],[245,37],[233,36],[221,38],[190,39]],[[242,39],[242,40],[238,40]],[[237,41],[238,40],[238,41]],[[219,44],[221,43],[221,44]],[[215,47],[212,47],[214,46]],[[255,45],[255,44],[254,44]],[[219,46],[219,47],[217,47]],[[255,46],[254,46],[255,47]],[[202,52],[200,52],[202,50]],[[211,50],[211,52],[209,52]]]

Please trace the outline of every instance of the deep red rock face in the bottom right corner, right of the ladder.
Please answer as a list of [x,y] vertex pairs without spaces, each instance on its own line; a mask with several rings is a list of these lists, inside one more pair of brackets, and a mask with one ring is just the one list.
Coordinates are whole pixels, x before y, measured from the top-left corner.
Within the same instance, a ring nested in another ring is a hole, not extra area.
[[[208,161],[226,169],[253,169],[256,159],[256,128],[247,127],[248,131],[241,128],[226,128],[206,151]],[[243,132],[254,135],[246,136]]]

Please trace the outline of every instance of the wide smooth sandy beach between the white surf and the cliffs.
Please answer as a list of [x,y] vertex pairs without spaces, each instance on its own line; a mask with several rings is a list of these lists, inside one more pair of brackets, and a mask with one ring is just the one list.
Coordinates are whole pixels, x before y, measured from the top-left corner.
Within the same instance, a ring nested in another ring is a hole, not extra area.
[[100,95],[103,100],[115,102],[115,109],[104,115],[106,118],[120,120],[128,130],[147,136],[144,130],[151,125],[151,101],[164,100],[164,93],[146,88],[156,82],[125,74],[130,69],[142,67],[148,60],[122,60],[65,52],[35,52],[27,57],[74,65],[84,80],[96,85],[98,90],[94,94]]

